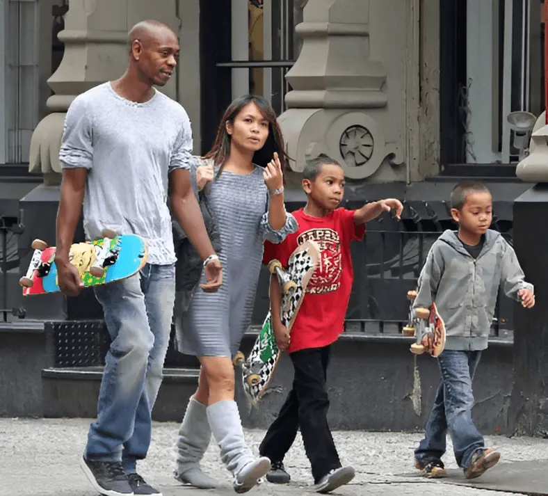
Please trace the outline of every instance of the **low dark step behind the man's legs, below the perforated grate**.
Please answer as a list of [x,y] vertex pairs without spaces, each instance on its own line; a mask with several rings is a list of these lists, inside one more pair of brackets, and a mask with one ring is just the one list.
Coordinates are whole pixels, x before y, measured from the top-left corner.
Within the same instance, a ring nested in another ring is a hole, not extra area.
[[[198,387],[199,369],[164,369],[163,382],[152,412],[159,422],[182,419],[188,399]],[[44,417],[97,417],[97,398],[103,367],[42,369]]]

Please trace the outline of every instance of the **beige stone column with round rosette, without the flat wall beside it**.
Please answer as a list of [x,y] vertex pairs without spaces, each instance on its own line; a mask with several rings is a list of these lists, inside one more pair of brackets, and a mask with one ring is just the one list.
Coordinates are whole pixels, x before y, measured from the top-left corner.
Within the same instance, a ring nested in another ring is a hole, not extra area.
[[305,2],[296,26],[303,47],[287,73],[289,110],[279,118],[296,172],[325,153],[343,164],[350,179],[402,180],[393,168],[403,162],[403,149],[389,132],[387,72],[369,58],[369,4]]

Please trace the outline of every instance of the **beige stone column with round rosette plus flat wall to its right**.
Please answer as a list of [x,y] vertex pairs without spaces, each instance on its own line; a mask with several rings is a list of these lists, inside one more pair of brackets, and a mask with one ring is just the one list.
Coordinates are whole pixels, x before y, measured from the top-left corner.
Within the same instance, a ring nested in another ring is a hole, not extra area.
[[280,116],[295,173],[321,153],[357,181],[412,182],[437,173],[439,16],[424,4],[306,2],[296,28],[303,49],[287,74],[293,90]]

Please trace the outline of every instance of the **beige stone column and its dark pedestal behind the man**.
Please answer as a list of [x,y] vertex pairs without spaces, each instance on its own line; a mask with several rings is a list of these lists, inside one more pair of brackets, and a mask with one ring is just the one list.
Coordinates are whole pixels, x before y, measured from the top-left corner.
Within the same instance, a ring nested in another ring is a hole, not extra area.
[[[40,121],[31,140],[29,170],[42,173],[44,184],[20,202],[25,225],[24,233],[19,236],[21,272],[29,266],[33,239],[55,245],[61,184],[59,147],[67,109],[80,93],[123,74],[129,57],[127,32],[144,19],[159,20],[179,32],[176,1],[70,0],[65,29],[58,35],[65,43],[63,61],[47,81],[55,93],[47,100],[51,113]],[[162,91],[175,99],[177,77]],[[81,223],[76,229],[75,241],[83,241]],[[65,298],[62,294],[26,298],[24,306],[31,319],[102,318],[102,311],[90,291],[83,291],[76,298]]]

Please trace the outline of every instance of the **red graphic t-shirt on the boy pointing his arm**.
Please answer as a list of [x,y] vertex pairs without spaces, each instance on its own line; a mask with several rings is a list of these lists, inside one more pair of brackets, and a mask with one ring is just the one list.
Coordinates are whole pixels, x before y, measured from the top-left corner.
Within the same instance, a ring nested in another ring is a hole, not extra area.
[[278,259],[287,266],[295,248],[308,240],[318,243],[321,257],[291,328],[289,353],[337,341],[344,330],[354,278],[350,241],[361,241],[365,234],[365,224],[355,225],[353,210],[339,208],[325,217],[312,217],[300,209],[293,216],[299,224],[297,232],[280,244],[265,241],[263,263]]

